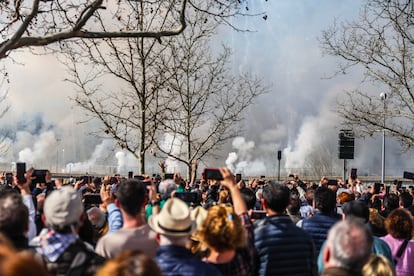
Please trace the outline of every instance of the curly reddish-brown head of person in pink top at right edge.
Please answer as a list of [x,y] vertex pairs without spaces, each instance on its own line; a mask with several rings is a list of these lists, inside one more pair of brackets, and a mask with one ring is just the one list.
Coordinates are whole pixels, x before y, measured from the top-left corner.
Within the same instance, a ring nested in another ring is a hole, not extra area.
[[413,217],[409,211],[402,208],[394,209],[385,219],[385,229],[396,239],[410,240],[413,227]]

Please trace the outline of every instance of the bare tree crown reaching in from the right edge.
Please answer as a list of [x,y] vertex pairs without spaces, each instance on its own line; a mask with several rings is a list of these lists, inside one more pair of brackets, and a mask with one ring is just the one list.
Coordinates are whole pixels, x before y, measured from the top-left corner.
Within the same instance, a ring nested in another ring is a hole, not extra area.
[[[339,57],[337,73],[362,69],[379,89],[348,91],[338,112],[361,135],[385,128],[406,148],[414,146],[414,1],[368,0],[358,20],[335,23],[320,38]],[[388,97],[380,98],[380,92]]]

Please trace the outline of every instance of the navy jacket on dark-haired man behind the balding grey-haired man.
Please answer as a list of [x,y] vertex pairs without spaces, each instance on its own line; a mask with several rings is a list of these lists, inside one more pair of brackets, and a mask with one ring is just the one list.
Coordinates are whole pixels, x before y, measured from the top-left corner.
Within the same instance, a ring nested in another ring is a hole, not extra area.
[[342,218],[338,214],[316,212],[313,217],[304,218],[302,228],[312,237],[316,254],[319,255],[323,242],[328,237],[328,230]]

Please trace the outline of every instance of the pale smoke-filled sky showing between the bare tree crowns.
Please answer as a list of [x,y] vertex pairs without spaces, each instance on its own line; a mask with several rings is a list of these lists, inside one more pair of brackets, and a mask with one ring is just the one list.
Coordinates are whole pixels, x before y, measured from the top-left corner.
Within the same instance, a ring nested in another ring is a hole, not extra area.
[[[235,22],[236,25],[252,32],[223,28],[214,43],[224,43],[233,48],[236,73],[248,70],[260,76],[271,89],[267,95],[257,99],[246,113],[243,138],[230,142],[224,148],[221,160],[209,161],[206,165],[222,166],[228,154],[234,152],[227,160],[234,169],[244,174],[275,175],[276,151],[279,149],[284,151],[282,167],[287,168],[286,172],[306,166],[304,156],[318,147],[325,147],[336,156],[340,129],[339,120],[333,113],[336,99],[344,89],[357,87],[360,80],[358,74],[324,79],[334,72],[335,59],[322,57],[317,37],[335,18],[357,17],[362,1],[251,2],[249,10],[265,11],[267,20],[261,16],[241,18]],[[108,151],[111,143],[86,137],[85,128],[90,126],[77,124],[82,115],[79,109],[72,108],[69,97],[73,96],[74,90],[63,81],[63,66],[55,57],[24,52],[14,57],[24,65],[8,66],[8,102],[11,110],[3,125],[11,132],[19,132],[14,137],[12,149],[2,156],[3,162],[47,155],[46,163],[36,158],[28,162],[52,168],[58,166],[59,169],[69,162],[82,162],[78,165],[86,167],[107,164],[108,161],[100,161],[102,156],[98,155]],[[36,124],[40,130],[35,127]],[[97,145],[100,146],[99,152]],[[378,141],[357,141],[357,146],[357,158],[351,165],[357,166],[360,171],[378,174]],[[401,158],[396,157],[397,147],[392,146],[388,151],[387,167],[389,173],[394,174],[393,168],[406,164],[401,164]],[[113,158],[115,164],[119,164],[121,159],[127,167],[133,165],[133,161],[128,161],[120,153],[117,159]],[[335,162],[336,165],[341,164],[337,160]],[[400,171],[395,174],[400,174]]]

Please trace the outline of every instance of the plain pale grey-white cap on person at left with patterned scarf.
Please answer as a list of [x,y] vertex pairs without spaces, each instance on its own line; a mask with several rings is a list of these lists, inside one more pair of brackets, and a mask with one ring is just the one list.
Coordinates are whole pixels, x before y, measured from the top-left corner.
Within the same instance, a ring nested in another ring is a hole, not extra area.
[[80,222],[83,204],[79,194],[71,186],[64,186],[46,197],[43,212],[47,224],[64,227]]

